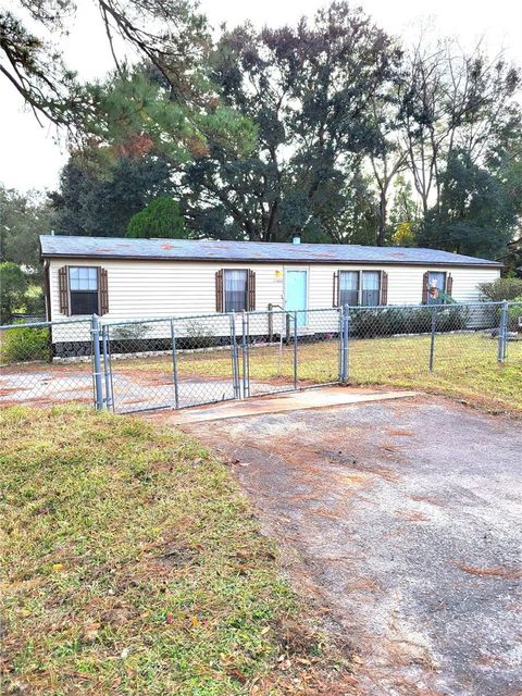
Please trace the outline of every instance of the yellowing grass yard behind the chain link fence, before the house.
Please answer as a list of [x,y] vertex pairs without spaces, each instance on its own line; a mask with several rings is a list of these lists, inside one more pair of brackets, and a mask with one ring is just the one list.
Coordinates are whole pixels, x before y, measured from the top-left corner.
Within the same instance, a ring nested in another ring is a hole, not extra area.
[[[293,382],[293,347],[250,349],[250,377],[254,381]],[[436,336],[434,371],[428,371],[430,336],[352,339],[349,347],[349,383],[421,389],[468,400],[489,410],[522,412],[522,341],[510,341],[508,360],[497,362],[497,341],[482,333]],[[172,378],[170,357],[114,360],[115,373]],[[228,377],[231,357],[226,350],[181,352],[182,377]],[[336,340],[298,346],[298,378],[301,384],[338,378]]]

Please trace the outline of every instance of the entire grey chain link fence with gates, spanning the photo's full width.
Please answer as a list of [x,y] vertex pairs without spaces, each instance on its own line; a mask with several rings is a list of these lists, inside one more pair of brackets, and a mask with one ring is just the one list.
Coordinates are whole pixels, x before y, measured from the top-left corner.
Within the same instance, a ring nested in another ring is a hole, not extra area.
[[522,409],[522,303],[272,308],[0,327],[3,405],[78,401],[126,412],[338,383]]

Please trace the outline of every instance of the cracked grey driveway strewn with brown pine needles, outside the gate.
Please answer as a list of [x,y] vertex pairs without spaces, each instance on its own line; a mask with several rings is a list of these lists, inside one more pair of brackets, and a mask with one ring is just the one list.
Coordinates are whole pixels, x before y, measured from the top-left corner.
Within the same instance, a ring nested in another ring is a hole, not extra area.
[[522,693],[520,421],[423,396],[182,428],[234,468],[361,694]]

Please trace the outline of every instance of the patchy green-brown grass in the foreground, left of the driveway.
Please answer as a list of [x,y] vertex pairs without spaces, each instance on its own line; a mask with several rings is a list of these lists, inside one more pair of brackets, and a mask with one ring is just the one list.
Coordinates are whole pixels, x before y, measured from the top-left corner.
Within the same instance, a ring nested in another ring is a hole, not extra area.
[[226,467],[80,407],[1,415],[2,693],[345,694]]

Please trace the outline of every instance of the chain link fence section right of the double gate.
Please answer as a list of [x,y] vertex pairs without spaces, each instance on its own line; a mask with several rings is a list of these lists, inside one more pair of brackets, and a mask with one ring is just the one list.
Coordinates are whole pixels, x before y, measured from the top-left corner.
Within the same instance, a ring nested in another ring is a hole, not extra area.
[[345,316],[343,382],[522,410],[522,303],[350,308]]

